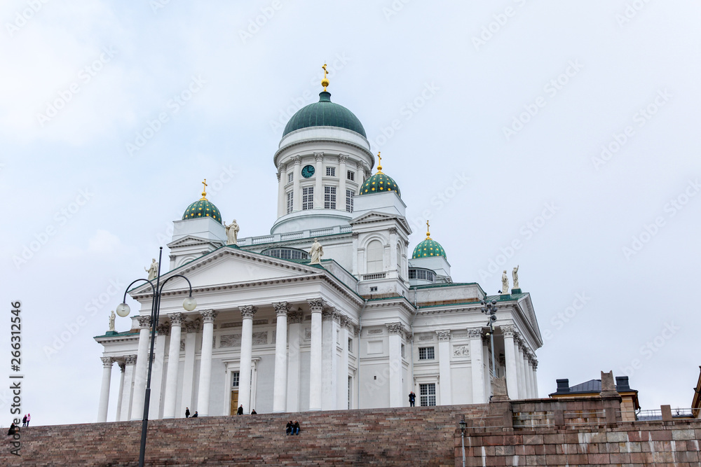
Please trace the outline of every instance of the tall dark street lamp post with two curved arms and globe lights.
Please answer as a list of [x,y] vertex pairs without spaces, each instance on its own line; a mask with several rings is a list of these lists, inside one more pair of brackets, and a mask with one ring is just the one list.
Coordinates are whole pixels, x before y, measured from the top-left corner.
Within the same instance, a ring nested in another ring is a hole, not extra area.
[[124,298],[122,299],[121,304],[117,305],[116,309],[116,312],[119,316],[129,316],[130,309],[129,305],[126,304],[127,292],[129,291],[129,288],[139,281],[145,281],[151,284],[151,290],[154,291],[154,296],[151,299],[151,351],[149,352],[149,374],[146,380],[146,396],[144,398],[144,419],[142,420],[141,425],[141,448],[139,450],[139,467],[144,467],[144,456],[146,455],[146,434],[149,428],[149,404],[151,402],[151,370],[153,369],[154,365],[154,344],[156,344],[156,339],[154,337],[156,336],[158,315],[161,312],[161,293],[163,293],[163,287],[165,286],[165,283],[170,281],[170,279],[175,279],[175,277],[182,277],[183,279],[185,279],[187,281],[187,285],[190,288],[190,293],[188,297],[185,300],[183,300],[182,307],[188,312],[191,312],[197,307],[197,302],[194,298],[192,298],[192,284],[190,284],[190,281],[187,277],[183,276],[182,274],[175,274],[174,276],[165,279],[165,281],[163,281],[163,284],[161,284],[162,258],[163,246],[161,246],[161,250],[158,252],[158,273],[156,274],[156,286],[154,286],[154,283],[151,282],[152,279],[136,279],[127,286],[127,288],[124,291]]

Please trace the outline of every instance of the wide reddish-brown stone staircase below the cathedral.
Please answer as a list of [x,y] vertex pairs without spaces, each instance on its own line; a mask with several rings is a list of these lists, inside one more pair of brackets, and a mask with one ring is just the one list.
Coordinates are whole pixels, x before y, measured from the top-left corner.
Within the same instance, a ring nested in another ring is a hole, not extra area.
[[[488,405],[337,410],[149,421],[149,466],[453,466],[461,415]],[[285,424],[298,419],[297,436]],[[0,465],[136,466],[141,421],[32,426],[21,457],[6,437]]]

